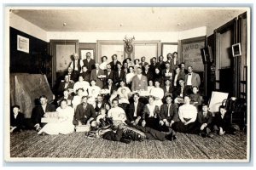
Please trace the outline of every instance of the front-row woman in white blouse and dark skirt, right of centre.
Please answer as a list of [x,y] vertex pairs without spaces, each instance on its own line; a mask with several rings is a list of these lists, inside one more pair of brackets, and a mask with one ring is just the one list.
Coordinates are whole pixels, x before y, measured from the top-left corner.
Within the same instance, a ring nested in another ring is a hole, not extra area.
[[189,96],[184,97],[184,105],[178,108],[179,122],[174,122],[173,130],[180,133],[197,133],[196,132],[196,117],[197,109],[190,104]]

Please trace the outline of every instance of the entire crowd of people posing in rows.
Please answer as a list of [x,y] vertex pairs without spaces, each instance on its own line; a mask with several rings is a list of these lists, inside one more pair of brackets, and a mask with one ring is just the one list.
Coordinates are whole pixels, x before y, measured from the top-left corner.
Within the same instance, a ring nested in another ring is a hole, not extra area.
[[[84,60],[73,54],[55,101],[49,104],[46,96],[40,96],[40,105],[33,108],[26,126],[42,135],[73,133],[86,126],[98,137],[125,143],[131,134],[137,134],[138,140],[163,141],[176,139],[175,132],[209,138],[213,132],[236,133],[224,106],[212,116],[199,92],[199,74],[191,65],[186,69],[178,63],[177,52],[167,54],[166,61],[163,56],[153,57],[150,64],[144,56],[120,62],[113,54],[112,61],[107,60],[103,56],[100,64],[90,52]],[[52,122],[42,121],[52,117]],[[13,106],[10,121],[11,133],[24,129],[19,105]]]

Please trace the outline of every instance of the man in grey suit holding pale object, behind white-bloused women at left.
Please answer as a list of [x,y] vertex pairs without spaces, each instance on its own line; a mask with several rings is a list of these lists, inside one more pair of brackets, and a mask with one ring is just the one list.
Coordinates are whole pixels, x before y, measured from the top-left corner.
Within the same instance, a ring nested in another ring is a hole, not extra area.
[[100,69],[98,63],[96,63],[95,66],[96,66],[96,69],[93,69],[90,72],[90,80],[95,80],[96,86],[103,88],[103,86],[104,86],[103,80],[104,80],[104,76],[106,76],[106,75],[105,75],[104,71],[102,71],[102,69]]

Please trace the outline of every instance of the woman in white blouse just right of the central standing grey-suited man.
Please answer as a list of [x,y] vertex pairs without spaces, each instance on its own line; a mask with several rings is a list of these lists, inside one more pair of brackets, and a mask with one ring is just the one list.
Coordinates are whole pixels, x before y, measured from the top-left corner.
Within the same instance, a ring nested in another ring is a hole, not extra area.
[[163,105],[162,99],[164,98],[165,93],[164,93],[164,90],[162,88],[160,88],[159,80],[155,80],[154,86],[155,86],[155,88],[151,89],[150,95],[154,96],[154,98],[155,98],[154,104],[158,105],[160,108],[160,106]]

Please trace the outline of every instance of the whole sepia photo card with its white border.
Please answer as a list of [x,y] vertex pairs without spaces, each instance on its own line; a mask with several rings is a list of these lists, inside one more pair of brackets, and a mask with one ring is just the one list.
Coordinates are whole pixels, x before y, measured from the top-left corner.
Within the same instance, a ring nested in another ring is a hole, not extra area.
[[250,160],[251,8],[4,9],[5,161]]

